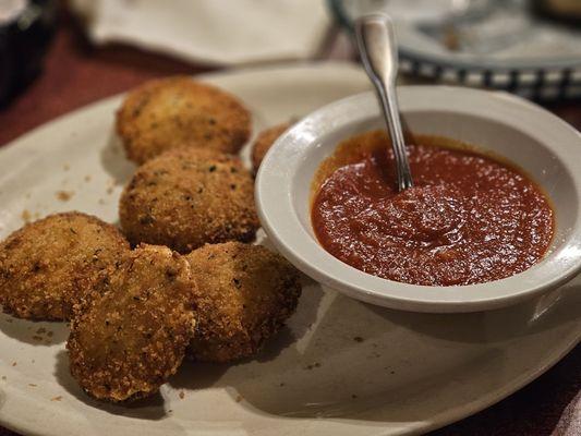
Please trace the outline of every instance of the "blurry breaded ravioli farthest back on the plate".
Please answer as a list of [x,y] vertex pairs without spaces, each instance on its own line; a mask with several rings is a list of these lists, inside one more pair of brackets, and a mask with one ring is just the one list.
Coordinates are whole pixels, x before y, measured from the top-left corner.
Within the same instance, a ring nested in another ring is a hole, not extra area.
[[234,96],[187,76],[143,84],[117,113],[117,132],[137,164],[184,146],[235,154],[251,129],[250,112]]

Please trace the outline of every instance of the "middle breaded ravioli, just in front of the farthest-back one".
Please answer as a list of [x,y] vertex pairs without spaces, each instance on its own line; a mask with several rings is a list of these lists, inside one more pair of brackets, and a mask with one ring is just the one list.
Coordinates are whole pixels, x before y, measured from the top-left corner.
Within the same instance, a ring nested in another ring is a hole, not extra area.
[[259,227],[254,182],[240,159],[184,148],[137,169],[121,196],[120,219],[130,242],[180,253],[205,243],[250,241]]

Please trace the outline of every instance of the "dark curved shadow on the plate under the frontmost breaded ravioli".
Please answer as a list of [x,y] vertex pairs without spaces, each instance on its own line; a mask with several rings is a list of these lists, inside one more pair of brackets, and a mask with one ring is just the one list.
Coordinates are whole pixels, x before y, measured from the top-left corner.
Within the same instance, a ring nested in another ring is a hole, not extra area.
[[164,403],[164,398],[158,392],[153,397],[130,402],[126,404],[112,404],[97,401],[86,395],[72,377],[69,370],[69,356],[66,351],[62,350],[57,354],[57,364],[55,367],[55,377],[57,382],[78,401],[84,402],[92,408],[100,409],[108,413],[120,416],[134,417],[138,420],[158,421],[167,417],[168,412]]

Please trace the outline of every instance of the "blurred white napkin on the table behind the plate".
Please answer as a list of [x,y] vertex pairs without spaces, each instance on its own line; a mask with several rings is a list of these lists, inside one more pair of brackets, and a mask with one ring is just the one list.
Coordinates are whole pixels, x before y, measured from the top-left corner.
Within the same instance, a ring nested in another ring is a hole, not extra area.
[[95,45],[124,43],[235,65],[308,59],[331,20],[324,0],[70,0]]

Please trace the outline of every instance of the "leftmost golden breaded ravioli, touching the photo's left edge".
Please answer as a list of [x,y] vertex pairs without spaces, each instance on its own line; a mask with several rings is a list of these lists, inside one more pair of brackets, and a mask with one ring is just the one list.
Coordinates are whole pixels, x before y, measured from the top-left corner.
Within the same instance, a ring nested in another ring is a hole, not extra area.
[[0,303],[28,319],[69,319],[73,305],[107,286],[129,243],[90,215],[64,213],[28,223],[0,244]]

